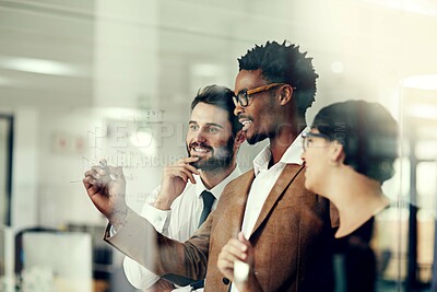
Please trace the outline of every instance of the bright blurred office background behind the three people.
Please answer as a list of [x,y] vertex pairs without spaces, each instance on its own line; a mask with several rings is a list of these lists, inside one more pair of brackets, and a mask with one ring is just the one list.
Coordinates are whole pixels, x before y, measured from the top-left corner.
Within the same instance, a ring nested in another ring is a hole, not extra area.
[[[84,171],[101,157],[125,166],[128,203],[139,211],[162,167],[186,153],[197,91],[233,89],[236,59],[268,39],[299,44],[314,57],[320,78],[308,122],[350,98],[379,102],[400,122],[401,159],[385,185],[393,208],[376,219],[371,243],[377,288],[432,291],[433,0],[0,0],[0,291],[24,278],[50,284],[61,273],[27,269],[23,277],[22,249],[35,233],[83,235],[70,248],[85,250],[84,266],[92,261],[92,290],[129,291],[121,255],[102,243],[106,221],[84,191]],[[244,145],[243,170],[263,144]],[[61,248],[64,240],[48,241]],[[341,270],[341,254],[335,265]],[[340,275],[339,292],[344,280]]]

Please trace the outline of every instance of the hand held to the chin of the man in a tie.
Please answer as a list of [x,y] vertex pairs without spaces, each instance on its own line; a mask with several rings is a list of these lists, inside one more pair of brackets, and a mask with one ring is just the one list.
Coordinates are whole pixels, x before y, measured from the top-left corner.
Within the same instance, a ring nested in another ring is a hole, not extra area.
[[173,201],[182,194],[188,182],[196,184],[193,174],[199,171],[191,163],[199,161],[199,157],[186,157],[179,160],[175,165],[164,168],[161,180],[161,190],[154,202],[154,207],[161,210],[169,210]]

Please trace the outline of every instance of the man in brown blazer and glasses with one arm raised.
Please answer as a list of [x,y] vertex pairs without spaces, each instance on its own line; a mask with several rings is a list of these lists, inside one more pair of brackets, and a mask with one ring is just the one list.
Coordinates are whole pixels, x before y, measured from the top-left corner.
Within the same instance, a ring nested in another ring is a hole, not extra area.
[[[206,292],[225,292],[229,284],[239,292],[332,291],[330,205],[305,189],[300,164],[299,135],[318,78],[311,59],[295,45],[268,42],[238,62],[235,114],[250,144],[270,140],[253,170],[225,187],[216,210],[185,243],[155,234],[155,266],[144,248],[122,240],[145,243],[149,225],[119,196],[109,199],[119,212],[106,213],[117,233],[105,240],[157,275],[206,275]],[[117,175],[114,188],[123,182]]]

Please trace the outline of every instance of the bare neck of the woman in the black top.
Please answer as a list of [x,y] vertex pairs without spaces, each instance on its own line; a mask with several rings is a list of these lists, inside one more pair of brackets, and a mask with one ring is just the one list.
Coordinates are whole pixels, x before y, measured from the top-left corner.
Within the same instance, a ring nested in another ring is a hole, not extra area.
[[351,234],[390,203],[379,182],[355,171],[342,171],[330,178],[327,195],[323,196],[339,210],[336,238]]

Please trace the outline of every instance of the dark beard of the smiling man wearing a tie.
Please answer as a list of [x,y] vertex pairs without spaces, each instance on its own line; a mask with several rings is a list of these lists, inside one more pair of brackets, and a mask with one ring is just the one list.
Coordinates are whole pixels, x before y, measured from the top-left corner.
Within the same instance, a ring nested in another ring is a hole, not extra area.
[[[200,143],[200,147],[208,148],[210,151],[213,151],[213,155],[211,157],[203,157],[193,155],[193,157],[199,157],[197,162],[191,163],[198,170],[202,170],[203,172],[220,172],[231,166],[234,159],[234,139],[229,138],[226,141],[225,145],[218,147],[215,150],[210,145]],[[188,155],[190,154],[190,149],[187,145]]]

